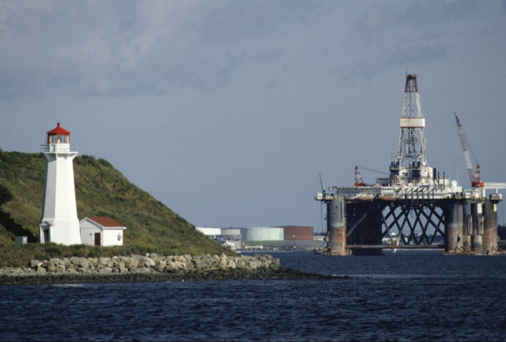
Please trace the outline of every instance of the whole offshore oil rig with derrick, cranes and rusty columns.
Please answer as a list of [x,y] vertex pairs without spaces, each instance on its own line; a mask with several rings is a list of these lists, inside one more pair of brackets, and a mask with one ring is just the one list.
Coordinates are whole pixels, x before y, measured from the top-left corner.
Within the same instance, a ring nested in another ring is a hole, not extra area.
[[[462,189],[428,166],[416,78],[406,75],[399,146],[388,177],[365,184],[355,167],[354,186],[325,188],[320,175],[322,191],[315,200],[326,204],[327,246],[318,253],[381,255],[383,249],[444,248],[446,254],[497,254],[497,204],[502,201],[497,189],[506,184],[480,180],[480,165],[474,169],[471,164],[456,114],[472,188]],[[487,188],[495,193],[487,197]]]

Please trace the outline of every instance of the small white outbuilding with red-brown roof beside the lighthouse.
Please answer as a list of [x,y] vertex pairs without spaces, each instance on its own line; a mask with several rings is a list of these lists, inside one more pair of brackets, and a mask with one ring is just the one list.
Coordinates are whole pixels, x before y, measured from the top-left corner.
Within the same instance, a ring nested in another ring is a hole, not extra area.
[[79,229],[85,245],[122,246],[126,227],[107,216],[90,216],[79,221]]

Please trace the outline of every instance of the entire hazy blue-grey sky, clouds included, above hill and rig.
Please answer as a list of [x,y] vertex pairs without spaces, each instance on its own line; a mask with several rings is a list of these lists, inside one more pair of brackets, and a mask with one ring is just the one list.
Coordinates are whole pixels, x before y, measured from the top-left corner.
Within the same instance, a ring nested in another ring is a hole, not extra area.
[[429,166],[470,188],[456,112],[506,181],[504,32],[506,1],[0,1],[0,148],[61,122],[197,226],[320,231],[319,173],[388,171],[406,70]]

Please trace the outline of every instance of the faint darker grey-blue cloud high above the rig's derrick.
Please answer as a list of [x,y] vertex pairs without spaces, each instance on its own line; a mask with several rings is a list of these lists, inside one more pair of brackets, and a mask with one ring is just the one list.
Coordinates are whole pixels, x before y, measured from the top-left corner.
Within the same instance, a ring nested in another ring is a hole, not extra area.
[[452,42],[445,42],[444,35],[449,27],[471,17],[479,7],[474,1],[417,1],[397,7],[370,7],[353,24],[347,45],[360,58],[343,79],[369,79],[390,67],[430,63],[447,56]]

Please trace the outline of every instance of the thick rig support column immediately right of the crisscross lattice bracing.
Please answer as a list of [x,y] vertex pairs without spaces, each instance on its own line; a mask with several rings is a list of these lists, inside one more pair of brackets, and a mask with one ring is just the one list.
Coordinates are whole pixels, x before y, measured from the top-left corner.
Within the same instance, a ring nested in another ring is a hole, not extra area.
[[445,252],[461,253],[463,247],[463,206],[461,203],[449,203],[445,208]]

